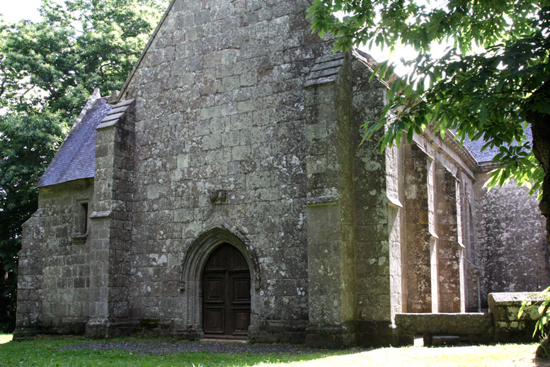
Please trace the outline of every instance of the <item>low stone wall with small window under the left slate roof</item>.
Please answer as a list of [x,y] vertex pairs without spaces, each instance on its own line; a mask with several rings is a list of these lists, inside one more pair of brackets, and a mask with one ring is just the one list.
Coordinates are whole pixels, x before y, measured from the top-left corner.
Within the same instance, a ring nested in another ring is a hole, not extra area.
[[[82,334],[89,314],[90,247],[81,205],[91,206],[93,179],[42,187],[39,193],[42,226],[35,230],[43,240],[33,256],[42,259],[33,266],[42,266],[41,326],[44,331]],[[36,238],[24,235],[25,241]]]

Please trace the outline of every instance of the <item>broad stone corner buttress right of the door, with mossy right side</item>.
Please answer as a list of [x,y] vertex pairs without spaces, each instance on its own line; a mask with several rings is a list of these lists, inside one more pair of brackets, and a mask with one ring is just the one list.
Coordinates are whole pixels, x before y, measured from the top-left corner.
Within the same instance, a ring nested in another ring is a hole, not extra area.
[[306,84],[312,345],[389,344],[401,310],[399,199],[389,200],[399,195],[399,157],[380,154],[374,140],[360,146],[361,125],[378,119],[385,98],[365,61],[357,52],[321,57]]

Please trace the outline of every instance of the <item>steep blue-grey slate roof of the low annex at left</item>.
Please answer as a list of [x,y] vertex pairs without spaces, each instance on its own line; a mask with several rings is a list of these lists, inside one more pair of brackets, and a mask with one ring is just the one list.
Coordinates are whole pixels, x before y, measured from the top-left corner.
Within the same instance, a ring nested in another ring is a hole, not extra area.
[[[93,103],[93,104],[92,104]],[[38,184],[50,186],[94,176],[96,169],[96,127],[110,112],[106,98],[88,101],[84,115],[74,123],[69,135],[50,162]],[[86,108],[88,108],[86,110]]]

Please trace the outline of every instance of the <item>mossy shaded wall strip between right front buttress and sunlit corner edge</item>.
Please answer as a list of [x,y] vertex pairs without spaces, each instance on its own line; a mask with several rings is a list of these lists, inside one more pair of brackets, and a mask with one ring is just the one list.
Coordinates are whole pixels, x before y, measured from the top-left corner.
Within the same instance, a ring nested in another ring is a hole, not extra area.
[[[355,256],[357,261],[357,321],[361,344],[388,344],[393,337],[392,312],[399,308],[399,284],[392,276],[399,273],[396,249],[389,244],[389,201],[386,174],[397,170],[397,162],[380,154],[377,138],[362,140],[361,126],[377,121],[386,103],[386,88],[359,60],[351,64],[353,206]],[[381,132],[380,132],[381,133]],[[392,166],[386,166],[386,163]],[[392,223],[393,224],[393,223]],[[394,244],[392,244],[394,245]],[[392,257],[393,256],[393,257]]]

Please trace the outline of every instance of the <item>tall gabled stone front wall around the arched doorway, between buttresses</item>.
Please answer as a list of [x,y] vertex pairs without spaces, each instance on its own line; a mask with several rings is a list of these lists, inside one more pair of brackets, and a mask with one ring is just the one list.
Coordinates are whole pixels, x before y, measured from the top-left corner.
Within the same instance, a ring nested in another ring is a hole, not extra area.
[[260,263],[251,335],[304,337],[303,85],[316,57],[331,50],[311,34],[308,6],[181,0],[161,24],[126,90],[136,98],[132,319],[188,328],[179,271],[207,230],[210,192],[225,191],[222,211]]

